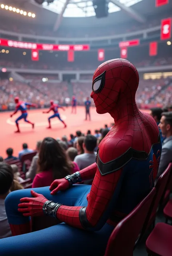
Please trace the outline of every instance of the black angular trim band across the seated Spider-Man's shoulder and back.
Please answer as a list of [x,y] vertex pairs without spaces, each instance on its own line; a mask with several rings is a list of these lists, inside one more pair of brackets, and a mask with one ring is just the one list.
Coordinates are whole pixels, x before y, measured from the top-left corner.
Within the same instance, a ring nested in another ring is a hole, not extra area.
[[[158,136],[158,142],[155,144],[158,144],[160,142],[160,133]],[[155,145],[153,144],[153,145]],[[152,147],[153,147],[152,145]],[[99,153],[97,155],[97,167],[102,175],[109,174],[114,171],[118,171],[120,168],[122,168],[124,165],[126,165],[132,158],[138,159],[138,160],[146,160],[148,156],[151,153],[152,147],[150,149],[149,154],[145,151],[138,151],[135,149],[128,149],[123,155],[120,157],[111,160],[110,162],[103,163],[102,160],[99,157]]]

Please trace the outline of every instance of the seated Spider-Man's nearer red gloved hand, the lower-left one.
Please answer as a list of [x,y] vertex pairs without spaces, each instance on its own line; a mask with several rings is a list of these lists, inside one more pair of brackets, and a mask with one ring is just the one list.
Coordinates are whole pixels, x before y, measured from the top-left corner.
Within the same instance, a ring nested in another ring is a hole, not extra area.
[[31,195],[33,198],[24,197],[20,199],[20,204],[18,204],[18,211],[23,213],[23,216],[41,216],[44,215],[42,207],[44,203],[48,201],[43,195],[38,194],[31,190]]

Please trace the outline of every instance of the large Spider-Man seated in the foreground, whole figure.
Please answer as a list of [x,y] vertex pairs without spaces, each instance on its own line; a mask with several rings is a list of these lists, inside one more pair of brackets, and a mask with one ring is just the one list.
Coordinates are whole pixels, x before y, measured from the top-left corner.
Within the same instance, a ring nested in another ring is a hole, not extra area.
[[[99,144],[96,163],[54,180],[51,193],[49,187],[10,193],[5,206],[14,237],[0,240],[1,255],[103,255],[116,223],[148,194],[157,174],[150,165],[161,152],[159,129],[136,105],[138,84],[127,60],[98,67],[91,98],[97,113],[110,113],[115,125]],[[92,186],[73,185],[92,178]],[[29,233],[29,216],[44,214],[62,223]]]

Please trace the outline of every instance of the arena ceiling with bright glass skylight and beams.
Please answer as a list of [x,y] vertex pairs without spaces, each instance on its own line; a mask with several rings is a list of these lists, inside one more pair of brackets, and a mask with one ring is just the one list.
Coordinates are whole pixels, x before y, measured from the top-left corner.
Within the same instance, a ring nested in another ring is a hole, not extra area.
[[[0,9],[0,18],[9,18],[32,24],[52,25],[54,30],[61,27],[100,27],[107,25],[116,26],[118,23],[137,22],[144,23],[147,18],[160,16],[163,13],[172,13],[172,1],[160,8],[155,7],[155,0],[109,0],[109,15],[106,18],[97,19],[94,7],[90,0],[54,0],[49,6],[35,3],[34,0],[1,0],[1,3],[22,8],[33,12],[36,18],[21,18],[12,12],[4,12]],[[51,10],[51,11],[50,11]],[[25,19],[25,21],[24,21]]]

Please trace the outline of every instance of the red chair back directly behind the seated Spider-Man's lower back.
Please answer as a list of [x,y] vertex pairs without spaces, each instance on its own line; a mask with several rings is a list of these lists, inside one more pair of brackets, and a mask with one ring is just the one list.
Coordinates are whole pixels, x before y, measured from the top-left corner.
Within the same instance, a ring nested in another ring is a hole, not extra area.
[[128,214],[112,232],[106,247],[105,256],[133,256],[133,250],[139,233],[156,194],[156,188]]

